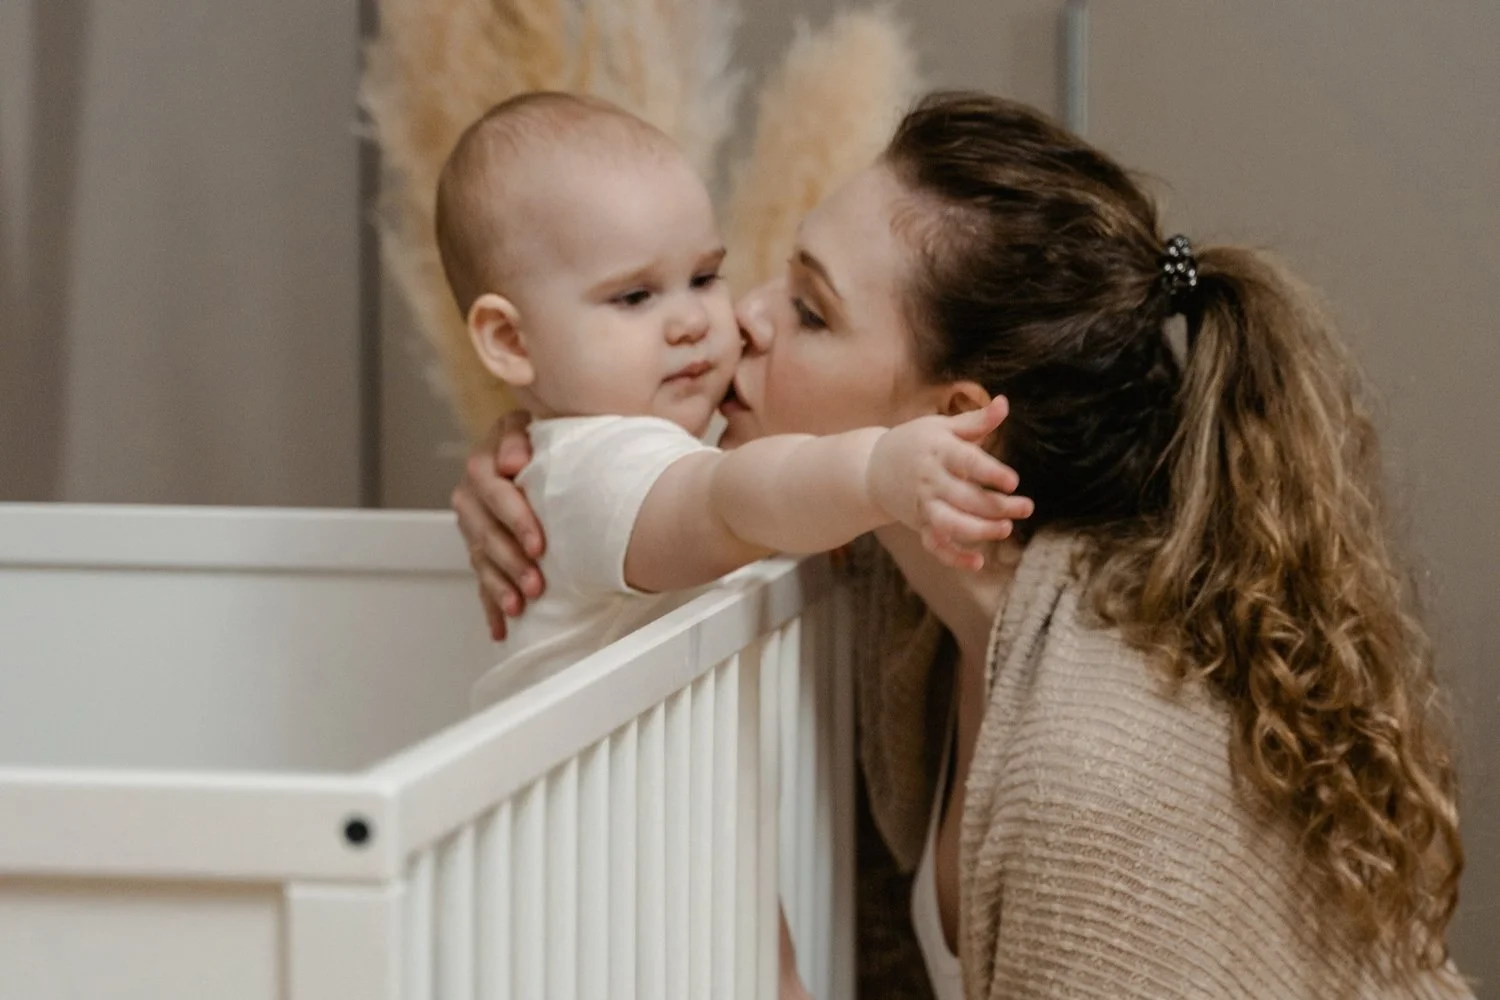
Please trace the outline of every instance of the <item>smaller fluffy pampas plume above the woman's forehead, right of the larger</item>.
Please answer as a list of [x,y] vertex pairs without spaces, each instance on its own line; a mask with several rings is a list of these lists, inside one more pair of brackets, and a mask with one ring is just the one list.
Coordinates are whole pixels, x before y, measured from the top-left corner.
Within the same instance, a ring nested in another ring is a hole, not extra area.
[[729,202],[730,288],[771,277],[796,226],[834,187],[874,160],[921,87],[904,25],[884,7],[800,25],[760,91],[750,156]]

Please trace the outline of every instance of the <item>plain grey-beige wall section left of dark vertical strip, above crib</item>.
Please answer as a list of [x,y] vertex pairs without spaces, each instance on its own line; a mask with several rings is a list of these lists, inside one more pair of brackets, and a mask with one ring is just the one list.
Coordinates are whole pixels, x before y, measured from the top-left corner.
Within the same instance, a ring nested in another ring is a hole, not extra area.
[[0,499],[358,502],[356,40],[0,0]]

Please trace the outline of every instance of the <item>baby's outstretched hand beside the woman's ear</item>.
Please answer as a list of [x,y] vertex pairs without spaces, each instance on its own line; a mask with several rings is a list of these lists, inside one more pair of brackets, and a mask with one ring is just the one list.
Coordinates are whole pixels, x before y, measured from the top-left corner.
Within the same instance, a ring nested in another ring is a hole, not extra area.
[[870,454],[874,502],[946,565],[981,568],[975,547],[1010,537],[1012,522],[1032,514],[1029,499],[1010,496],[1020,477],[982,447],[1006,412],[996,396],[957,417],[920,417],[885,432]]

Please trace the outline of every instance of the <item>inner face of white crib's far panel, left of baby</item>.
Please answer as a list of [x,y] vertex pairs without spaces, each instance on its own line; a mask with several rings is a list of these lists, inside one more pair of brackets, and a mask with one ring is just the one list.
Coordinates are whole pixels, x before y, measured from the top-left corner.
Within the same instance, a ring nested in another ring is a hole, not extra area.
[[0,504],[0,636],[26,768],[354,771],[494,661],[436,514]]

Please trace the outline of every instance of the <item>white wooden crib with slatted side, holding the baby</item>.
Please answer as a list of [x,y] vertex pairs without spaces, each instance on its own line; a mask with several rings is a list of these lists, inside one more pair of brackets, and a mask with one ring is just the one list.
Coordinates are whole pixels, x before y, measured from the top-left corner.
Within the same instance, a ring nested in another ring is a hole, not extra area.
[[0,505],[0,997],[854,997],[825,561],[470,714],[440,513]]

